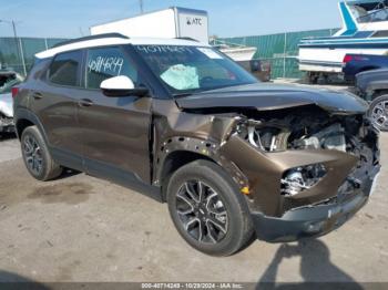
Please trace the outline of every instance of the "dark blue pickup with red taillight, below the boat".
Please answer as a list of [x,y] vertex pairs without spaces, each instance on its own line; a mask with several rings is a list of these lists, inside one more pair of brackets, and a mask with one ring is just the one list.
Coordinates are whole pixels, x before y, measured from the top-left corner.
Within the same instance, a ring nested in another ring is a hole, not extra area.
[[388,55],[346,54],[343,61],[343,73],[347,82],[355,82],[360,72],[388,69]]

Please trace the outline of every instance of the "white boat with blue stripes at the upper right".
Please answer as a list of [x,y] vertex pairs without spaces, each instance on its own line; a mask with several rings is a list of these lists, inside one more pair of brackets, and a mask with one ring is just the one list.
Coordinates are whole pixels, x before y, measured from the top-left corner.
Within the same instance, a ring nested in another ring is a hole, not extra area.
[[310,76],[341,73],[346,54],[388,52],[388,0],[339,2],[344,27],[329,38],[303,39],[299,70]]

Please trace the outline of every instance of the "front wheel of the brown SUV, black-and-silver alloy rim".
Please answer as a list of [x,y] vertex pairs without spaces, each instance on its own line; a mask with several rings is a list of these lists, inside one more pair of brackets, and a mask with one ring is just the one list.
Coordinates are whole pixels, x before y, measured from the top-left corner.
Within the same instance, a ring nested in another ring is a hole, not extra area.
[[245,197],[231,176],[212,162],[196,160],[177,169],[169,182],[167,204],[177,231],[198,251],[226,257],[252,241]]

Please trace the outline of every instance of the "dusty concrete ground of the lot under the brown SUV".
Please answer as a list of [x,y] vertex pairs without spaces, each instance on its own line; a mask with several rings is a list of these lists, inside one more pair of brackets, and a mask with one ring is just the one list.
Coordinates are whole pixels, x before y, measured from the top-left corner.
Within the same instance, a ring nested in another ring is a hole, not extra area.
[[[381,136],[382,166],[388,135]],[[388,168],[370,203],[317,240],[254,242],[229,258],[192,249],[167,208],[84,174],[32,179],[0,141],[0,281],[388,282]]]

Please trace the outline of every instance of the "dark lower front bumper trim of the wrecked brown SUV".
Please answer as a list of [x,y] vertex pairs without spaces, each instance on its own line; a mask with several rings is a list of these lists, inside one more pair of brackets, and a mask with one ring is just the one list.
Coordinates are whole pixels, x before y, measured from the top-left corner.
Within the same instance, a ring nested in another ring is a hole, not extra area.
[[257,238],[268,242],[288,242],[319,237],[339,228],[367,204],[379,170],[380,166],[376,165],[363,180],[361,188],[350,193],[339,190],[337,197],[325,204],[292,209],[280,218],[252,213]]

